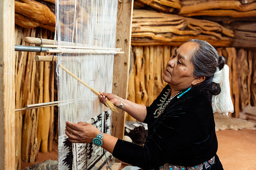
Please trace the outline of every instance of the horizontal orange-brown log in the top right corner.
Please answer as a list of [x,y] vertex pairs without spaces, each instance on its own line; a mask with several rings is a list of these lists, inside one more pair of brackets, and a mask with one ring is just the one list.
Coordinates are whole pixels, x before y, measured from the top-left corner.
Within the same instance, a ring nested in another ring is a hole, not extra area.
[[256,1],[241,4],[239,0],[233,1],[191,1],[182,0],[179,15],[183,16],[231,16],[255,17]]

